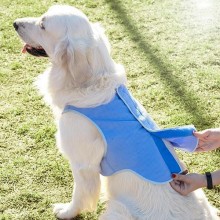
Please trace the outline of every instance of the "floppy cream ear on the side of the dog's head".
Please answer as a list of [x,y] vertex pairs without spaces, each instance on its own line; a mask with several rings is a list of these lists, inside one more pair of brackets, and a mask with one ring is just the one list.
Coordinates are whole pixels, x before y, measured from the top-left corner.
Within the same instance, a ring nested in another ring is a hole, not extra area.
[[86,44],[79,40],[63,39],[56,47],[55,62],[71,74],[76,83],[84,83],[91,77]]

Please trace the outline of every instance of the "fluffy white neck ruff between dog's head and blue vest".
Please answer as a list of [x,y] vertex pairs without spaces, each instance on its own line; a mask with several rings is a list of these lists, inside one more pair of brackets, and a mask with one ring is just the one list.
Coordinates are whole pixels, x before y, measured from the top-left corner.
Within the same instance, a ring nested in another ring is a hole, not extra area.
[[126,76],[123,68],[118,68],[116,73],[96,76],[79,84],[62,68],[52,66],[38,77],[36,84],[46,103],[60,114],[67,104],[82,108],[109,102],[115,88],[126,84]]

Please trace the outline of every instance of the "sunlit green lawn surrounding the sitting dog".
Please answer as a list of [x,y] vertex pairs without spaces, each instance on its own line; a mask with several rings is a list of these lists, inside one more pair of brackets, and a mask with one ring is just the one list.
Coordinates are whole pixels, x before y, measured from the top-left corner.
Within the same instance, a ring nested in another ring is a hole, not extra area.
[[[22,55],[14,19],[39,16],[56,3],[83,10],[106,29],[128,86],[161,127],[220,126],[218,0],[2,0],[0,7],[0,220],[55,219],[51,204],[68,202],[72,177],[55,147],[51,111],[34,89],[47,59]],[[178,152],[190,172],[220,167],[220,151]],[[220,188],[205,190],[220,208]],[[76,219],[95,220],[103,209]]]

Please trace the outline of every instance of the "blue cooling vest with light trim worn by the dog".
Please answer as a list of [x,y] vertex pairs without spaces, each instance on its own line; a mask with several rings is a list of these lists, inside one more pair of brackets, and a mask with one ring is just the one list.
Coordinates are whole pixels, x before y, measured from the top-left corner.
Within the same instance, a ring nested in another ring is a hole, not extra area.
[[182,169],[164,140],[191,152],[198,144],[192,125],[158,129],[123,85],[109,103],[94,108],[67,105],[63,113],[71,111],[87,117],[101,133],[106,143],[101,161],[104,176],[130,171],[153,183],[169,182],[171,173]]

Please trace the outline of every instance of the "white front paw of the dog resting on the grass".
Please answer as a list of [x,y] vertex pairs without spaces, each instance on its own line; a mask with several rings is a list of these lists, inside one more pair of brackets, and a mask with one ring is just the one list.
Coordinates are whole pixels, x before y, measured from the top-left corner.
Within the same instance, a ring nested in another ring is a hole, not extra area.
[[53,213],[58,219],[69,220],[77,216],[77,210],[71,203],[58,203],[53,205]]

